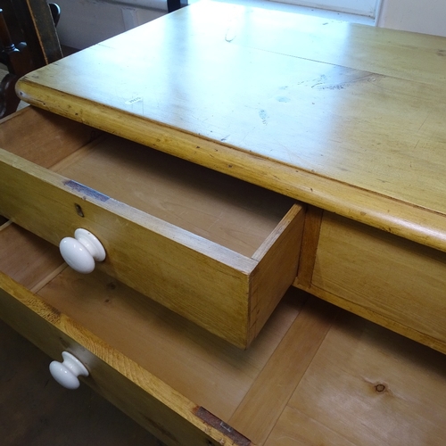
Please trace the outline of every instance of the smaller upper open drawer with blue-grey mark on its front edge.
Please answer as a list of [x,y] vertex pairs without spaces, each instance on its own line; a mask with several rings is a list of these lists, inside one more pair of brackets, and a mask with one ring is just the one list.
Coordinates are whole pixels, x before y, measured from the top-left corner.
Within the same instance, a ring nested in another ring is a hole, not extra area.
[[0,215],[56,245],[87,229],[103,272],[238,347],[293,283],[304,212],[288,197],[32,107],[0,147]]

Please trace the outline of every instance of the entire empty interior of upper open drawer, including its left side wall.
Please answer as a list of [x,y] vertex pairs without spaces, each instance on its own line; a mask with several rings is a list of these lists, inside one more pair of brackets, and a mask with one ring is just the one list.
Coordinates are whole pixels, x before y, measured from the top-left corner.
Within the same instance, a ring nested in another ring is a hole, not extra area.
[[[26,138],[6,137],[15,120],[31,127],[36,137],[32,149]],[[42,129],[32,128],[29,122],[35,120]],[[69,178],[68,186],[75,190],[80,183],[87,193],[93,189],[247,257],[294,203],[285,195],[42,111],[29,108],[2,127],[0,147]]]

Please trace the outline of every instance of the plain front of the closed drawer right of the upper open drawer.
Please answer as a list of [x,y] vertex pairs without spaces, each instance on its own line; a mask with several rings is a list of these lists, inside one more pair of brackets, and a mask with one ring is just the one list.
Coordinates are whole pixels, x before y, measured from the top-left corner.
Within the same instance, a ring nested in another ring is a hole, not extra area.
[[446,352],[446,253],[324,213],[313,293]]

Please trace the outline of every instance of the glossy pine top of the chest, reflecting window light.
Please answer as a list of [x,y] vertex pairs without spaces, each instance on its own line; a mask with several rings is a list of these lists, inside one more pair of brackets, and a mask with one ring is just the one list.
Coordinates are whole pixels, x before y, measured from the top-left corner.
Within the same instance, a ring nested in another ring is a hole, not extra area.
[[446,38],[200,2],[22,78],[29,103],[446,251]]

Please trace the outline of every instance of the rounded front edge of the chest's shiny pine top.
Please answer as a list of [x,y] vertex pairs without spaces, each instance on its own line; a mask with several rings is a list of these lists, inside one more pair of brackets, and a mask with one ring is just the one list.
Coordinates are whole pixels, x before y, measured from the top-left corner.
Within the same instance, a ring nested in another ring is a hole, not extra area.
[[[29,77],[18,81],[16,91],[24,101],[44,110],[446,252],[446,215],[441,212],[263,158],[221,141],[200,138],[181,128],[171,128],[103,103],[92,103],[36,85]],[[70,107],[64,106],[65,103]],[[103,119],[105,114],[107,119]],[[117,131],[113,123],[121,120],[122,115],[131,116],[131,125],[121,126]],[[169,139],[165,137],[166,129]],[[252,169],[254,164],[256,169]]]

